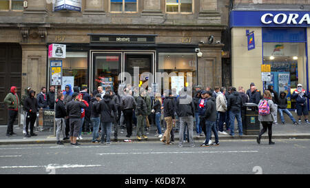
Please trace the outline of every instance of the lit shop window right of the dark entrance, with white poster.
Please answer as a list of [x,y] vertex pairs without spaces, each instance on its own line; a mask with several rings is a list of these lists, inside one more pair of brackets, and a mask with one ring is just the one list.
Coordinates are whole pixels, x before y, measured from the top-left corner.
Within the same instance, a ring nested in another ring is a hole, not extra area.
[[[192,89],[197,84],[197,55],[194,53],[159,53],[158,70],[167,75],[161,79],[161,92],[169,87],[169,90],[178,94],[183,87]],[[192,81],[190,79],[192,76]],[[158,78],[156,78],[158,79]]]

